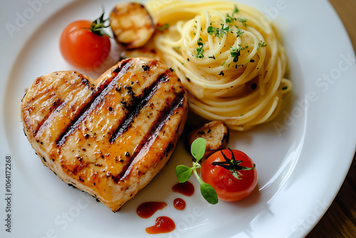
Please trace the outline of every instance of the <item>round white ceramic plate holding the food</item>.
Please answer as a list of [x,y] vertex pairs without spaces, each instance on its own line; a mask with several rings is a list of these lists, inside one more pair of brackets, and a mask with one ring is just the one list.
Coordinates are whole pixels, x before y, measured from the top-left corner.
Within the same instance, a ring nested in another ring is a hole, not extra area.
[[[347,174],[356,145],[355,54],[328,1],[240,1],[272,19],[290,59],[291,93],[280,116],[246,133],[232,133],[230,148],[256,162],[258,190],[247,200],[201,200],[172,192],[174,167],[189,163],[182,142],[169,164],[120,212],[73,190],[43,167],[23,135],[20,102],[38,76],[72,69],[58,49],[70,21],[93,19],[117,1],[1,1],[0,236],[1,237],[303,237],[328,209]],[[162,3],[167,1],[162,0]],[[111,60],[116,60],[112,53]],[[100,72],[97,72],[100,73]],[[7,157],[6,157],[7,156]],[[11,190],[6,191],[6,158]],[[7,195],[10,194],[10,195]],[[183,211],[172,201],[182,197]],[[11,203],[8,205],[6,199]],[[168,206],[142,219],[141,202]],[[11,211],[6,211],[6,207]],[[145,228],[167,215],[176,229],[152,236]],[[5,219],[11,217],[11,233]]]

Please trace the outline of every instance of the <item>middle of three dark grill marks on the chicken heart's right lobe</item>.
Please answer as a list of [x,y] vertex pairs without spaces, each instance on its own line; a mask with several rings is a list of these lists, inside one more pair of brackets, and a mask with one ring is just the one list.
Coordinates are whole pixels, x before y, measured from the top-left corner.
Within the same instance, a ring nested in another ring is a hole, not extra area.
[[150,98],[152,98],[152,95],[156,93],[157,89],[159,88],[159,83],[163,83],[164,81],[169,80],[168,73],[169,71],[166,71],[158,76],[157,79],[150,85],[150,87],[145,88],[140,97],[134,98],[133,103],[127,105],[127,110],[129,113],[127,113],[125,118],[122,120],[122,123],[120,123],[118,128],[115,130],[115,133],[112,134],[109,140],[111,144],[114,143],[116,138],[122,135],[122,133],[125,133],[125,131],[130,127],[133,119],[136,118],[136,116],[140,113],[140,110],[142,110],[142,108],[147,105]]

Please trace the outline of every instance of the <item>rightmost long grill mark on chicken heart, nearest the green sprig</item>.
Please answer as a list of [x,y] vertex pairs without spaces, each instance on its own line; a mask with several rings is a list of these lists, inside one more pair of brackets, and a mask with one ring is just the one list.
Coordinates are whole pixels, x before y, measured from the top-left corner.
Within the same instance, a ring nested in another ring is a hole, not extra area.
[[[114,182],[117,183],[120,180],[124,180],[125,177],[130,174],[130,167],[132,162],[135,160],[135,157],[137,157],[137,155],[139,155],[142,150],[145,150],[145,148],[150,148],[150,145],[153,143],[153,141],[156,140],[159,131],[162,130],[169,118],[173,115],[174,111],[183,106],[183,102],[184,91],[177,93],[176,97],[173,100],[167,102],[169,103],[169,105],[165,106],[164,109],[159,112],[159,115],[157,115],[157,119],[154,123],[151,124],[150,130],[148,130],[144,138],[142,138],[140,144],[136,146],[130,158],[130,161],[127,163],[125,169],[123,169],[122,172],[116,176],[111,175],[112,180],[114,180]],[[174,145],[172,145],[172,143],[169,143],[169,146],[168,148],[166,148],[166,150],[164,150],[164,153],[167,154],[169,150],[172,150],[173,147]]]

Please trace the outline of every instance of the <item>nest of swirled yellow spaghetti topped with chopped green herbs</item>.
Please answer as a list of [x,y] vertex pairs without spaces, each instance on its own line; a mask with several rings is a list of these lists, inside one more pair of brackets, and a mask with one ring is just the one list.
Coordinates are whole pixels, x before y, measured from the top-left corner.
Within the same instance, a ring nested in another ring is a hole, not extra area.
[[228,1],[149,1],[147,9],[161,26],[154,47],[189,90],[194,113],[233,130],[277,115],[291,89],[287,58],[259,11]]

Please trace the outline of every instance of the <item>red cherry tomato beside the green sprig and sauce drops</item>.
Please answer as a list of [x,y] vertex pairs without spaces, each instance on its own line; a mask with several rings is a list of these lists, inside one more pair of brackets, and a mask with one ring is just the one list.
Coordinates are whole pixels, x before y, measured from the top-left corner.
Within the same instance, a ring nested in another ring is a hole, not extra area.
[[[223,153],[228,160],[235,159],[238,166],[240,166],[239,168],[247,169],[233,170],[236,171],[239,179],[234,177],[229,169],[225,168],[229,162],[226,162]],[[226,165],[221,167],[221,165],[213,165],[213,162]],[[240,150],[224,149],[214,152],[201,165],[201,177],[204,182],[214,187],[219,200],[226,202],[244,199],[251,194],[257,185],[257,172],[254,168],[254,163],[250,157]]]

